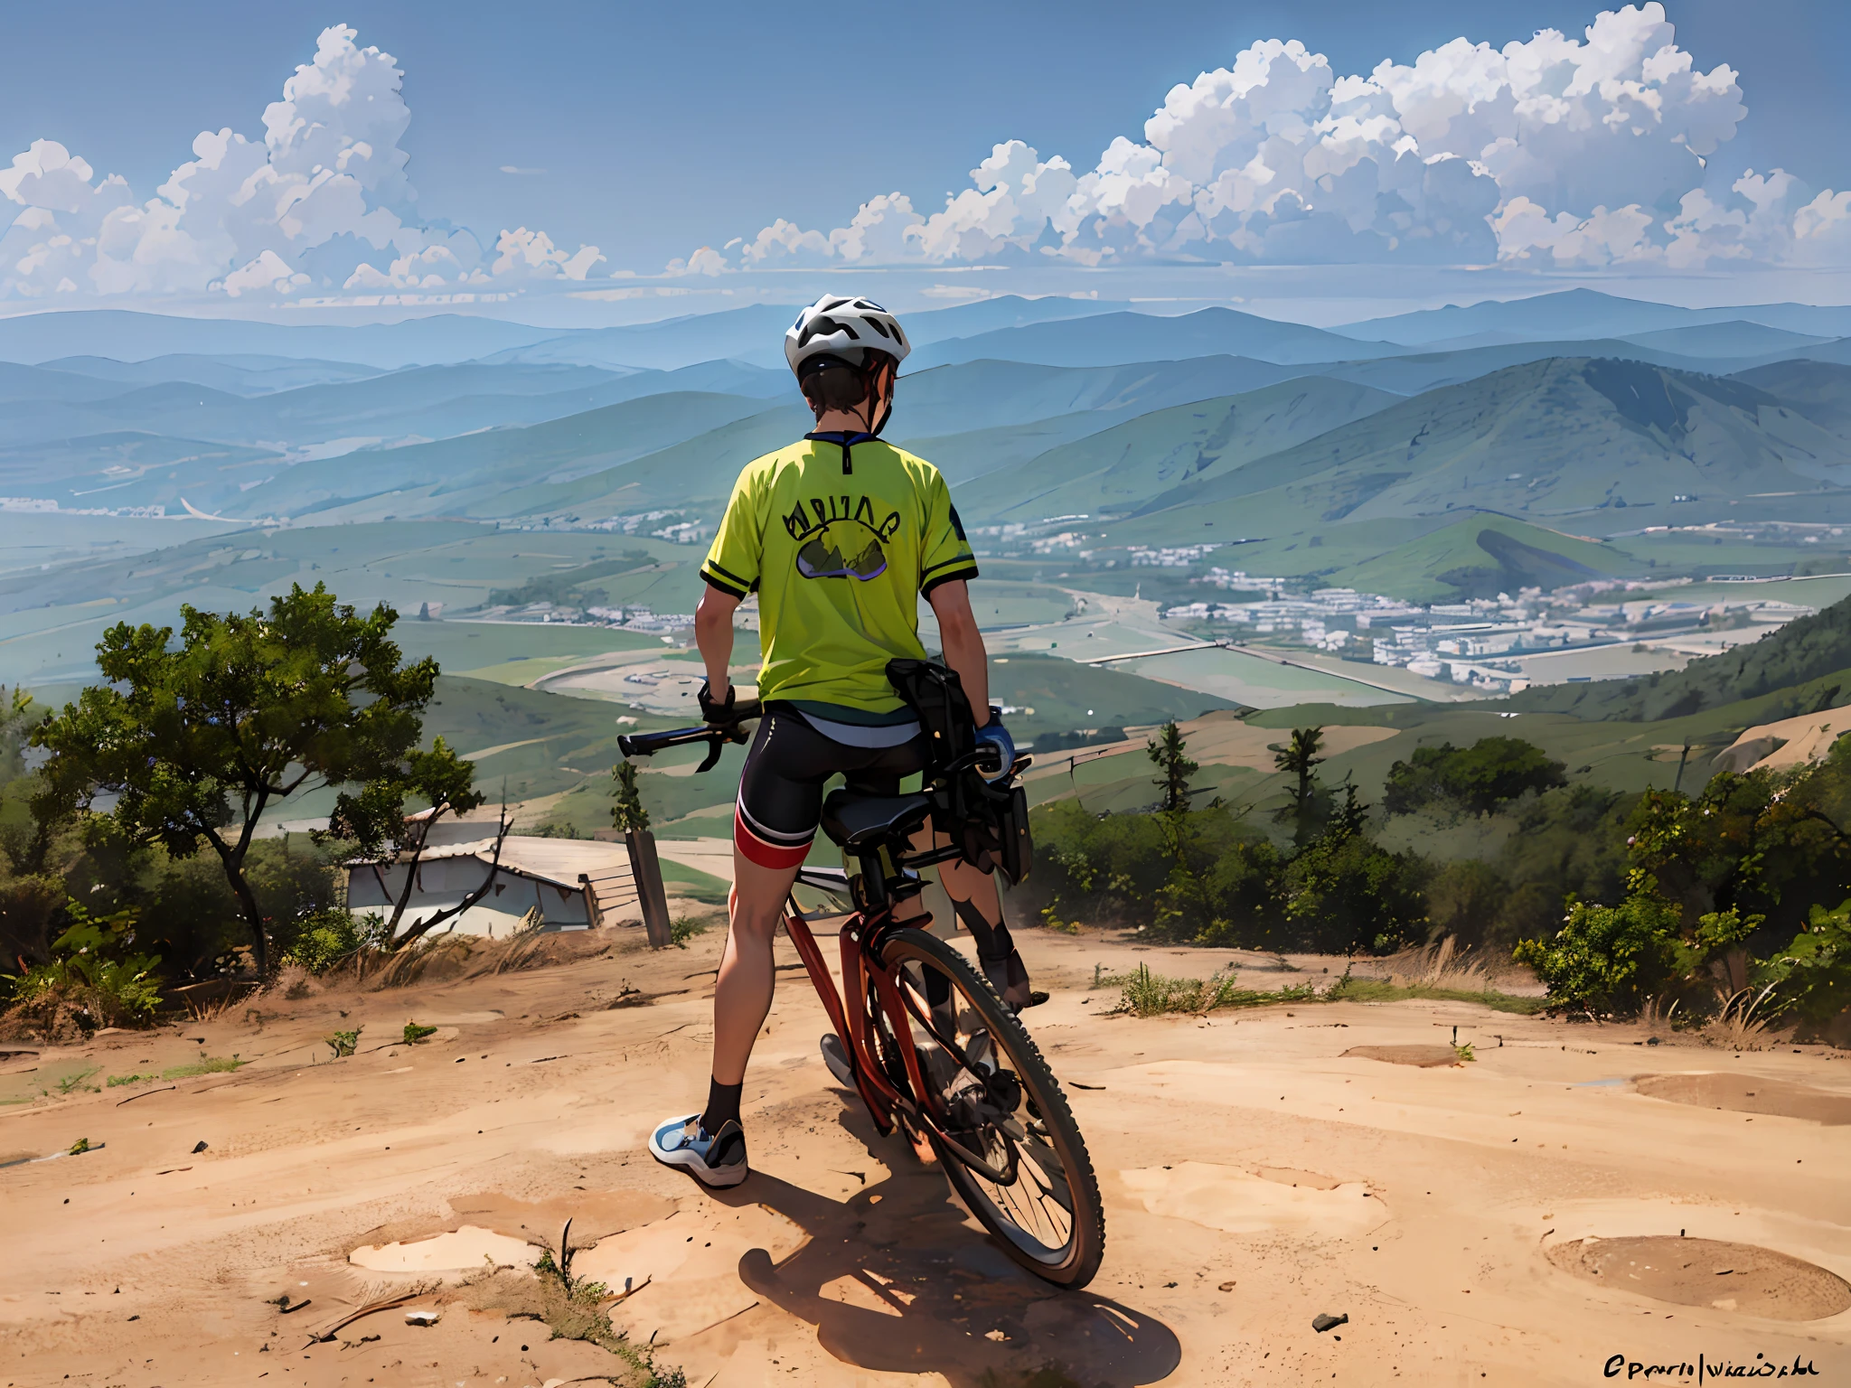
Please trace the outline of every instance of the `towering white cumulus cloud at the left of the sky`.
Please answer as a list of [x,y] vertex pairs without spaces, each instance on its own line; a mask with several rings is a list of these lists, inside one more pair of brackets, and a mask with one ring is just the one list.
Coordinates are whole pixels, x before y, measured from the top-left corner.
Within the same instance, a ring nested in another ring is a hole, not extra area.
[[526,228],[502,231],[491,259],[472,233],[422,224],[400,146],[404,72],[357,37],[322,30],[315,61],[265,107],[261,141],[202,131],[148,202],[56,141],[15,155],[0,170],[0,298],[448,294],[583,279],[603,259]]

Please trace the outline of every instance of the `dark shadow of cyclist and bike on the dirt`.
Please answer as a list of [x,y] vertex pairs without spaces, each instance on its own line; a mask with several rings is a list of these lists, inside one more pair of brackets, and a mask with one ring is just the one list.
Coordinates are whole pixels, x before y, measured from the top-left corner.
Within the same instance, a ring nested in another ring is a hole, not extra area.
[[[859,1103],[844,1099],[842,1123],[870,1153],[887,1151]],[[1020,1270],[977,1231],[937,1168],[903,1166],[846,1203],[763,1171],[713,1194],[726,1205],[764,1205],[809,1234],[777,1264],[764,1249],[748,1251],[739,1277],[814,1325],[818,1344],[846,1364],[942,1373],[951,1388],[1133,1388],[1181,1362],[1175,1332],[1153,1316]]]

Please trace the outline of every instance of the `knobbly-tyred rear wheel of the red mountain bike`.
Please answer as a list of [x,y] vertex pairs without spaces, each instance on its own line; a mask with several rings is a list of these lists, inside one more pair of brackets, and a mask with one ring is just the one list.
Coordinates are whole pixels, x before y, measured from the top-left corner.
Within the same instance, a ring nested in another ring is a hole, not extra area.
[[[951,1190],[1018,1264],[1057,1286],[1085,1286],[1105,1255],[1099,1183],[1029,1033],[961,953],[926,931],[892,931],[881,962],[907,1007],[920,1070],[948,1101],[950,1116],[924,1127]],[[927,986],[933,973],[942,983]],[[937,1010],[929,994],[942,999]],[[876,1023],[896,1049],[887,1018]]]

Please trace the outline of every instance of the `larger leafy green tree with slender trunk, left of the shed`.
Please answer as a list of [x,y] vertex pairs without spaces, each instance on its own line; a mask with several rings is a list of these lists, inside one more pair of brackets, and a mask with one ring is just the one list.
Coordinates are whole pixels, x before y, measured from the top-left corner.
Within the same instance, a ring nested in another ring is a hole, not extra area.
[[398,614],[368,616],[317,583],[292,585],[268,611],[217,616],[181,607],[172,627],[126,622],[104,633],[107,683],[31,731],[52,755],[33,811],[54,818],[113,796],[117,825],[187,859],[209,846],[250,929],[252,962],[270,972],[263,912],[246,859],[265,809],[320,787],[361,785],[391,803],[437,683],[431,659],[402,664]]

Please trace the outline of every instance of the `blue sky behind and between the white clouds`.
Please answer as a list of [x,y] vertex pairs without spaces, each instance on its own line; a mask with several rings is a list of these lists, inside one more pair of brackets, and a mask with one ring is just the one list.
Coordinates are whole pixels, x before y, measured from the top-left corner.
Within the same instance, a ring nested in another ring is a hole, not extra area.
[[[230,126],[261,141],[265,105],[278,100],[283,80],[298,63],[311,61],[326,26],[348,24],[357,31],[357,48],[376,44],[404,70],[402,96],[411,122],[398,148],[409,154],[416,202],[415,209],[400,205],[400,220],[468,228],[491,250],[503,228],[544,229],[559,255],[535,261],[535,274],[544,276],[548,265],[565,272],[566,257],[585,244],[603,257],[587,272],[598,279],[613,270],[653,274],[674,257],[689,257],[703,244],[722,248],[733,237],[750,242],[777,218],[827,239],[831,229],[850,226],[861,204],[885,192],[907,194],[911,215],[927,218],[942,209],[948,194],[970,187],[970,170],[1000,141],[1025,141],[1042,161],[1062,155],[1074,174],[1085,174],[1114,137],[1142,141],[1144,120],[1174,83],[1231,65],[1255,41],[1299,39],[1327,56],[1329,72],[1340,78],[1368,74],[1383,59],[1412,63],[1423,50],[1459,35],[1505,44],[1525,41],[1540,28],[1559,28],[1579,39],[1597,9],[1597,4],[1562,0],[1159,4],[1135,15],[1122,4],[1092,0],[1059,6],[953,0],[813,7],[809,13],[744,4],[709,4],[696,11],[583,0],[544,9],[468,2],[341,9],[291,4],[33,7],[7,19],[13,63],[7,83],[0,85],[0,167],[33,141],[57,141],[89,165],[94,180],[120,174],[133,200],[146,202],[181,161],[193,157],[189,146],[198,131]],[[1747,107],[1720,155],[1727,178],[1718,181],[1718,161],[1712,161],[1707,176],[1692,172],[1692,189],[1707,187],[1718,209],[1734,196],[1733,205],[1742,209],[1747,204],[1731,194],[1729,180],[1745,168],[1764,172],[1775,165],[1803,180],[1807,196],[1851,187],[1840,94],[1851,59],[1851,7],[1823,0],[1760,0],[1755,6],[1671,0],[1666,9],[1677,28],[1677,46],[1690,56],[1694,70],[1705,74],[1727,63],[1740,74],[1742,105]],[[1475,155],[1481,137],[1470,139],[1470,150],[1451,152]],[[1420,141],[1422,157],[1436,148],[1433,139]],[[1205,183],[1205,176],[1198,183]],[[1683,191],[1670,189],[1670,194]],[[1605,202],[1631,196],[1612,187],[1596,192]],[[1564,194],[1566,202],[1553,205],[1534,196],[1533,220],[1553,229],[1516,242],[1525,250],[1510,265],[1522,261],[1527,270],[1616,279],[1640,274],[1675,279],[1670,266],[1647,263],[1647,252],[1662,252],[1675,239],[1662,226],[1675,211],[1675,202],[1666,202],[1670,194],[1666,187],[1642,187],[1640,204],[1660,222],[1640,233],[1631,250],[1614,241],[1620,231],[1609,235],[1601,228],[1607,250],[1588,250],[1583,237],[1570,244],[1566,259],[1560,228],[1568,222],[1562,218],[1586,218],[1592,204],[1570,205],[1573,198]],[[1795,194],[1788,202],[1797,207],[1803,198]],[[1422,205],[1416,220],[1446,222],[1447,215],[1459,220],[1470,211],[1468,220],[1475,218],[1472,237],[1457,241],[1449,252],[1423,252],[1422,265],[1486,261],[1505,255],[1512,244],[1510,235],[1499,233],[1496,250],[1486,250],[1492,241],[1479,224],[1490,204],[1481,207],[1468,196],[1459,207],[1436,205],[1438,211]],[[1509,205],[1505,189],[1499,215]],[[9,204],[0,200],[0,224],[7,211]],[[1111,220],[1112,213],[1094,215]],[[1725,218],[1725,213],[1716,217]],[[1351,209],[1349,220],[1360,224],[1366,217]],[[1142,266],[1142,276],[1153,274],[1153,263],[1179,257],[1375,265],[1407,255],[1407,242],[1399,250],[1381,250],[1386,233],[1368,246],[1344,237],[1335,244],[1329,235],[1307,233],[1286,250],[1236,254],[1227,250],[1233,242],[1225,237],[1190,241],[1170,222],[1159,218],[1155,231],[1140,226],[1137,255],[1112,242],[1111,233],[1098,244],[1109,246],[1111,266]],[[1020,226],[1018,218],[1018,233]],[[78,231],[72,235],[81,239]],[[1074,246],[1083,250],[1085,235],[1092,233],[1083,228]],[[0,242],[0,259],[26,241],[15,229],[11,241]],[[1018,235],[1018,241],[1027,246],[1031,237]],[[242,239],[237,250],[228,250],[231,259],[215,283],[255,244]],[[407,244],[402,235],[398,250]],[[426,237],[426,244],[435,242]],[[938,255],[935,263],[996,261],[996,244],[983,254]],[[1046,235],[1037,244],[1046,246]],[[1048,268],[1042,252],[1022,246],[1016,261],[1025,257],[1031,270]],[[287,246],[276,254],[280,274],[296,272],[296,281],[313,283],[291,287],[285,278],[272,276],[246,291],[252,302],[339,287],[335,281],[352,268],[342,266],[329,279],[331,252],[318,261],[311,257],[315,263]],[[1808,254],[1807,268],[1818,274],[1823,252]],[[748,261],[740,250],[729,255],[727,272],[746,279],[753,270],[820,270],[831,255],[840,259],[837,252],[794,241],[789,250],[772,246],[770,259]],[[1005,246],[1003,259],[1009,257]],[[1827,255],[1831,270],[1838,259],[1851,259],[1834,257],[1836,252]],[[379,252],[372,259],[381,274],[391,274],[392,255]],[[1070,259],[1057,268],[1064,272]],[[1725,250],[1694,265],[1697,274],[1714,278],[1736,274],[1749,261],[1797,263],[1786,241],[1775,246],[1762,239],[1745,259]],[[863,263],[874,259],[863,255]],[[444,266],[435,270],[450,274]],[[1420,274],[1435,270],[1416,278]],[[400,281],[416,278],[416,270],[398,274]],[[83,276],[68,279],[76,287],[68,294],[93,294],[94,285]],[[744,287],[746,279],[739,283]],[[1022,274],[1024,283],[1037,287],[1055,279]],[[59,300],[56,281],[56,274],[44,279],[54,289],[37,307]],[[146,281],[115,292],[124,302],[155,300],[178,292],[176,283],[168,278],[161,289]],[[189,292],[198,298],[204,283],[200,278]],[[755,283],[763,283],[763,276]],[[520,292],[531,296],[542,289],[526,283]],[[13,294],[17,302],[0,309],[26,307],[28,298],[20,291]]]

